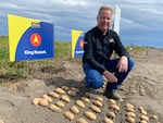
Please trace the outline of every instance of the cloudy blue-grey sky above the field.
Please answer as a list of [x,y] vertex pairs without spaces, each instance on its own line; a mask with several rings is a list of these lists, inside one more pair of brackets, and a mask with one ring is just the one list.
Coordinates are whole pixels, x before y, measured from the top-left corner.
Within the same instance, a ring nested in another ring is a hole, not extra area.
[[72,29],[97,25],[101,5],[121,8],[120,37],[125,46],[163,48],[163,0],[0,0],[0,36],[8,36],[8,14],[54,25],[54,40],[71,41]]

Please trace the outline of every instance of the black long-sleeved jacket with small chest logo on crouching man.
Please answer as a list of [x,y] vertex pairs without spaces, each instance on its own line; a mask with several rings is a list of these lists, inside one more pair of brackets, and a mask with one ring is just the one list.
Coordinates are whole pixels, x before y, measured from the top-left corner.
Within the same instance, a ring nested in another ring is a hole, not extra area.
[[92,69],[96,69],[102,74],[105,70],[103,64],[110,60],[113,51],[120,57],[129,57],[115,32],[109,29],[103,35],[96,26],[86,33],[83,62],[88,63]]

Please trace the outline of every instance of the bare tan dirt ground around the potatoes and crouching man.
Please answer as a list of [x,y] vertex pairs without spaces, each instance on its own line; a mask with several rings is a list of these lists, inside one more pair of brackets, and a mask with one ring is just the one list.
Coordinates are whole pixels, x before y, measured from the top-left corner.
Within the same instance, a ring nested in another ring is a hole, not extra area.
[[[148,118],[145,119],[145,121],[148,121],[147,123],[163,123],[163,49],[149,48],[131,56],[136,65],[120,87],[124,101],[116,101],[120,107],[118,111],[112,107],[109,99],[102,96],[104,88],[91,90],[85,87],[79,60],[63,61],[57,69],[49,67],[47,73],[39,74],[40,79],[27,77],[1,85],[0,123],[76,123],[79,118],[84,118],[88,123],[103,123],[104,118],[108,116],[108,111],[115,113],[114,123],[128,123],[126,121],[126,103],[134,106],[136,122],[131,123],[140,123],[143,119],[141,115]],[[45,94],[48,95],[57,87],[65,86],[68,88],[66,88],[64,95],[70,97],[70,102],[62,101],[62,94],[59,94],[60,98],[51,97],[52,102],[49,102],[46,107],[32,103],[34,98],[41,97]],[[68,91],[74,88],[78,90],[76,96],[70,96]],[[84,102],[85,108],[80,108],[75,102],[84,96],[87,96],[89,102]],[[101,112],[93,112],[96,120],[89,120],[84,113],[85,111],[91,111],[89,107],[95,103],[98,96],[103,99],[101,101],[103,106],[98,106]],[[60,112],[49,109],[52,103],[58,101],[65,104]],[[68,120],[64,116],[64,112],[70,111],[72,106],[76,106],[79,113],[74,114],[73,120]],[[140,107],[147,114],[139,110]],[[152,115],[155,115],[155,119],[152,119]]]

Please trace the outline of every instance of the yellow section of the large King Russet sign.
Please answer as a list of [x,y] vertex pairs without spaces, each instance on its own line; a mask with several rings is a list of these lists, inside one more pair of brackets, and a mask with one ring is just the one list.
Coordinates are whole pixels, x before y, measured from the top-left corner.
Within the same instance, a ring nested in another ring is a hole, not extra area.
[[33,20],[18,15],[8,15],[10,61],[15,61],[16,48],[23,34],[32,26],[32,23],[39,22],[39,20]]

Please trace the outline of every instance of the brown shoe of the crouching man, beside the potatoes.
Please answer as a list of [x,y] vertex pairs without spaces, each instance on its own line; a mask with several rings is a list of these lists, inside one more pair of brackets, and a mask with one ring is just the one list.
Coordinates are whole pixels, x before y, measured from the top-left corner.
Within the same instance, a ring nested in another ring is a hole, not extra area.
[[106,98],[109,99],[123,100],[117,91],[105,89],[103,95],[106,96]]

